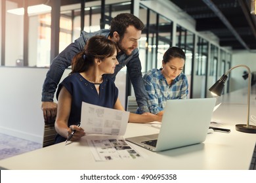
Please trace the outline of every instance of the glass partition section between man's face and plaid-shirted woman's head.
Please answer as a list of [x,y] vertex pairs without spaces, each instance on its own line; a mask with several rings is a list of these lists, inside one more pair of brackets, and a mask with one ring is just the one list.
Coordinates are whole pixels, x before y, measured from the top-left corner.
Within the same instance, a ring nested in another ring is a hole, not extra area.
[[173,23],[149,8],[140,6],[139,18],[145,25],[139,40],[142,73],[160,69],[164,52],[172,44]]

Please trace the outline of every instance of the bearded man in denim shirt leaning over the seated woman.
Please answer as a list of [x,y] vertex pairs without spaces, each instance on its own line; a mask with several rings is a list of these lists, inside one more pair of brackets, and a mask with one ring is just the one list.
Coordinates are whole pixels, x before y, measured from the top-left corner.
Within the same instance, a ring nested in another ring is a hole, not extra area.
[[131,13],[121,13],[111,20],[110,29],[100,29],[93,33],[81,31],[81,36],[53,59],[47,72],[41,98],[41,108],[45,122],[51,123],[56,117],[57,103],[53,102],[53,98],[64,70],[71,65],[72,59],[77,53],[83,52],[87,41],[95,35],[102,35],[116,42],[116,59],[119,65],[116,66],[114,73],[110,74],[110,78],[115,80],[117,73],[126,66],[139,107],[138,113],[149,112],[148,95],[143,86],[138,49],[138,42],[143,29],[144,24],[137,16]]

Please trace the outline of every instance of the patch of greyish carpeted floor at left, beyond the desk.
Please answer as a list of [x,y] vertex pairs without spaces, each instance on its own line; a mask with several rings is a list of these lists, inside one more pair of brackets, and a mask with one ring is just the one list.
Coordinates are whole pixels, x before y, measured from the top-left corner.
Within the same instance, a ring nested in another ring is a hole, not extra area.
[[42,144],[0,133],[0,159],[30,152],[38,148],[42,148]]

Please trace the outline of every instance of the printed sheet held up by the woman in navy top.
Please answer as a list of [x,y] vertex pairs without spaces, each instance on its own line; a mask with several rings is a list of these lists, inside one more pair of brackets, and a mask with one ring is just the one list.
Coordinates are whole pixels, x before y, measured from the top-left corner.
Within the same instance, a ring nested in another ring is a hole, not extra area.
[[129,112],[82,103],[81,127],[85,134],[124,135]]

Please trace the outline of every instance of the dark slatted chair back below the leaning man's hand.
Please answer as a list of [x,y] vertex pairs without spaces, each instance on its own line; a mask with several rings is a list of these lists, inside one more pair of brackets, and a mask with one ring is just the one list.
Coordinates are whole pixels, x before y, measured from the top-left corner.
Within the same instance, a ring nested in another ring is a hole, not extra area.
[[54,122],[45,122],[45,130],[43,134],[43,148],[54,144],[57,132],[55,131]]

